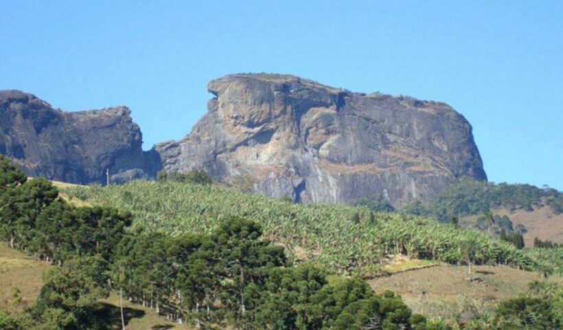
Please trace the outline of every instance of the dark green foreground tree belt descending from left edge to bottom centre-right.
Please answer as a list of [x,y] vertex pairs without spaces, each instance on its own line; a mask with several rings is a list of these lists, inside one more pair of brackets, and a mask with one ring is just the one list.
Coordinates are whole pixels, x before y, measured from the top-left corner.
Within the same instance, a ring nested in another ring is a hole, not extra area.
[[100,299],[114,287],[120,302],[154,302],[169,318],[205,329],[426,329],[400,297],[378,296],[360,278],[329,283],[317,266],[288,267],[284,248],[262,239],[251,220],[226,219],[210,234],[125,232],[129,214],[69,206],[49,181],[20,179],[9,164],[2,170],[3,239],[62,264],[45,274],[25,316],[0,314],[5,327],[108,329]]

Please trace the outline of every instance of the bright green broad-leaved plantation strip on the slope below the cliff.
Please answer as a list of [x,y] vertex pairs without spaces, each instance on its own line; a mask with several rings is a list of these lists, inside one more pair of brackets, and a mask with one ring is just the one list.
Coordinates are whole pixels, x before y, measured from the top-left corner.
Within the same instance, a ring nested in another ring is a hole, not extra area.
[[[334,204],[299,204],[214,186],[132,181],[123,186],[77,187],[67,195],[93,205],[132,212],[133,228],[148,232],[210,232],[223,219],[244,217],[262,225],[266,238],[281,243],[291,261],[306,259],[347,274],[369,274],[389,255],[463,263],[460,246],[471,241],[474,263],[525,269],[535,261],[514,245],[483,232],[460,230],[433,219],[376,213]],[[305,251],[298,256],[297,250]]]

